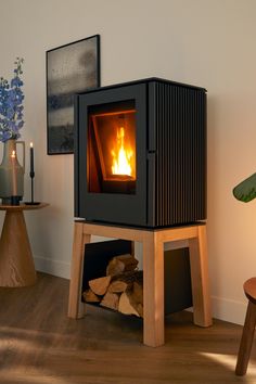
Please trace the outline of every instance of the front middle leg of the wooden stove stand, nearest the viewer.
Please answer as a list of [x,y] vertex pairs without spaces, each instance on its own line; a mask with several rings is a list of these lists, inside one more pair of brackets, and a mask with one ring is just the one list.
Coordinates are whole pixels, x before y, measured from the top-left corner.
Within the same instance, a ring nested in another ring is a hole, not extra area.
[[157,347],[164,335],[164,253],[157,234],[149,232],[143,241],[143,343]]

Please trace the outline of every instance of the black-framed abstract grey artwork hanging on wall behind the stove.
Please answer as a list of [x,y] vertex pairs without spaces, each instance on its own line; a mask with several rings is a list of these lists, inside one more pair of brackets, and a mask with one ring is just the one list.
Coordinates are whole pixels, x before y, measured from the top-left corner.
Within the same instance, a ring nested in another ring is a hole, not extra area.
[[74,153],[74,95],[100,87],[100,35],[47,51],[48,154]]

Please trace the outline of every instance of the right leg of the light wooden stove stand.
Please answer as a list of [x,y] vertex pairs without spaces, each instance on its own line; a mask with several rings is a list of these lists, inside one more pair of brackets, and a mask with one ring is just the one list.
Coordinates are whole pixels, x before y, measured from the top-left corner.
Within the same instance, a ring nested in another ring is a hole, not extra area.
[[199,226],[197,238],[189,240],[189,248],[194,323],[201,327],[209,327],[213,323],[206,244],[206,226]]

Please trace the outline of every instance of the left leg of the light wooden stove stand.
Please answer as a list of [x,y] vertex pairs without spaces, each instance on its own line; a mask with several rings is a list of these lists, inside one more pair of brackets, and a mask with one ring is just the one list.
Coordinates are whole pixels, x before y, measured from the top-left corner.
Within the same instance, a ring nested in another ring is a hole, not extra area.
[[90,234],[84,234],[84,223],[75,222],[68,300],[68,317],[73,319],[85,315],[85,304],[81,302],[84,256],[85,244],[90,243]]

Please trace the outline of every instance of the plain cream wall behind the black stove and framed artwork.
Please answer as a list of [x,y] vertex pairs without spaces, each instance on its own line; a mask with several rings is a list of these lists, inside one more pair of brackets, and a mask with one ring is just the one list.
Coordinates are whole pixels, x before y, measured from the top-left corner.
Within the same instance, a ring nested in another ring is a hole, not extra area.
[[[256,204],[236,202],[232,188],[256,170],[256,1],[0,0],[0,75],[25,57],[22,133],[35,143],[36,199],[50,203],[26,214],[38,268],[67,277],[73,240],[73,155],[46,153],[46,51],[100,34],[102,86],[157,76],[208,90],[214,315],[242,322]],[[28,185],[26,177],[27,199]]]

